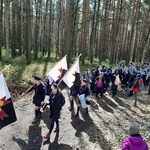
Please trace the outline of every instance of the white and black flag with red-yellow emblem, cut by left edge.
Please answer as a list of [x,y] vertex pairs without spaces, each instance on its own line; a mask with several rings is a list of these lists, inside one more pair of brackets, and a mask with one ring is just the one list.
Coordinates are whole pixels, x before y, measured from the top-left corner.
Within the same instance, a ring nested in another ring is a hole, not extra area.
[[0,72],[0,129],[17,120],[9,90]]

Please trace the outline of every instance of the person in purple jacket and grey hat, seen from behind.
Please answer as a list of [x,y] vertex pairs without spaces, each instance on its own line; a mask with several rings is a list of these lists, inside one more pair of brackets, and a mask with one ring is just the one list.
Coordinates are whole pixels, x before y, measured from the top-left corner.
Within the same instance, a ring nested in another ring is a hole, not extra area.
[[147,143],[143,140],[137,126],[131,126],[128,130],[129,136],[122,144],[122,150],[148,150]]

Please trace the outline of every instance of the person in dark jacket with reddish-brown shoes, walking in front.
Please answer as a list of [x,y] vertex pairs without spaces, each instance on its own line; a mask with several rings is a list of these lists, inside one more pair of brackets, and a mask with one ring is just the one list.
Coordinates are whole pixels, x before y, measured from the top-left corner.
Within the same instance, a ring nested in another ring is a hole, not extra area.
[[49,139],[54,128],[54,123],[56,123],[56,128],[54,132],[59,131],[59,118],[61,111],[61,98],[62,94],[59,92],[59,88],[57,84],[53,84],[51,86],[52,93],[50,94],[50,99],[46,101],[48,105],[50,105],[50,119],[51,124],[49,128],[49,132],[44,136],[45,139]]

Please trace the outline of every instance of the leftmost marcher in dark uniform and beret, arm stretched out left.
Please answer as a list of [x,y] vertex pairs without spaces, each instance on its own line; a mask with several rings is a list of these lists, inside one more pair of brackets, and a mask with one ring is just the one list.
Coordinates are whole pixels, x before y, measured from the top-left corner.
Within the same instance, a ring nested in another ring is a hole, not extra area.
[[34,77],[34,86],[29,89],[26,93],[23,93],[22,95],[25,95],[32,90],[35,91],[35,94],[33,96],[33,104],[35,105],[35,117],[32,123],[36,123],[40,118],[41,118],[41,111],[40,108],[44,104],[44,99],[45,99],[45,86],[41,82],[41,78],[37,75]]

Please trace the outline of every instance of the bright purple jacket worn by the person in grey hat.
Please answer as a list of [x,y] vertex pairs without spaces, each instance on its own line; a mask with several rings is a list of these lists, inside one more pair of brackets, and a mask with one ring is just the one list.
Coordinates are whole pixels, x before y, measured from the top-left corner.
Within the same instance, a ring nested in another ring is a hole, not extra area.
[[130,135],[124,140],[122,150],[148,150],[148,145],[141,135]]

